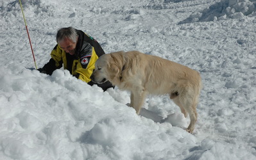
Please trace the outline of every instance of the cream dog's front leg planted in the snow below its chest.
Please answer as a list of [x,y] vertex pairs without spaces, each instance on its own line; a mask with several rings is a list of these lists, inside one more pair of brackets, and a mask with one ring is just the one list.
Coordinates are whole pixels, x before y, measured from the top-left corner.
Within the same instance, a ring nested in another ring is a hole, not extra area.
[[137,115],[139,115],[141,111],[141,107],[144,103],[144,99],[146,96],[146,92],[131,92],[131,107],[135,109]]

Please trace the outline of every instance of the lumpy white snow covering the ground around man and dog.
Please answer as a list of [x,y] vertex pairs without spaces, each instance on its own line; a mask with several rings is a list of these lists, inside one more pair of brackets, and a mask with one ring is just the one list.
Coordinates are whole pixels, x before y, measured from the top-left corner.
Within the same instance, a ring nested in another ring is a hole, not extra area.
[[[201,73],[198,122],[166,96],[35,68],[19,1],[0,2],[0,159],[256,159],[256,1],[22,0],[37,67],[73,26],[105,52],[138,50]],[[127,104],[127,105],[126,105]]]

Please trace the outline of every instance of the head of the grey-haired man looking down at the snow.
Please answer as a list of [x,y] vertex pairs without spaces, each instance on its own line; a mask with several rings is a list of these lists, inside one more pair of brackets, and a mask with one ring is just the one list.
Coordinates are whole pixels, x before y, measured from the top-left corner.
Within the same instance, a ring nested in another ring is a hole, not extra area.
[[71,55],[74,55],[76,43],[78,41],[78,34],[73,27],[60,28],[56,35],[56,41],[60,48]]

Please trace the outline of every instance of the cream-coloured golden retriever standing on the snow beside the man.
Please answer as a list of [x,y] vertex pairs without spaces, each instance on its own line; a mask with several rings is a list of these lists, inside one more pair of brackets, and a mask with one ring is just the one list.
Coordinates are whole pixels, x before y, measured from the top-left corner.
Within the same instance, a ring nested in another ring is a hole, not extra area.
[[110,81],[121,90],[129,90],[130,106],[138,115],[148,93],[169,94],[183,115],[189,114],[187,132],[194,131],[201,91],[201,77],[196,70],[139,51],[119,51],[99,57],[90,79],[99,84]]

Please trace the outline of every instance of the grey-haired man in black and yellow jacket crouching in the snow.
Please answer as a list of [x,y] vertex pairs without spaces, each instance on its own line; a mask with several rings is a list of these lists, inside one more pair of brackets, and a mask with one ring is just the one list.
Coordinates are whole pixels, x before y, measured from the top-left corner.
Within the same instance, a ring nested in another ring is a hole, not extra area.
[[[96,84],[90,80],[90,75],[95,68],[96,60],[105,54],[101,45],[83,31],[72,27],[59,29],[56,41],[58,44],[51,51],[51,59],[44,67],[38,68],[38,71],[51,75],[63,65],[64,69],[69,70],[78,79],[91,86]],[[113,87],[109,81],[97,85],[104,91]]]

